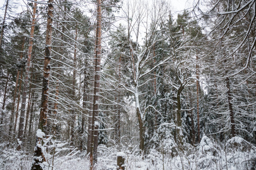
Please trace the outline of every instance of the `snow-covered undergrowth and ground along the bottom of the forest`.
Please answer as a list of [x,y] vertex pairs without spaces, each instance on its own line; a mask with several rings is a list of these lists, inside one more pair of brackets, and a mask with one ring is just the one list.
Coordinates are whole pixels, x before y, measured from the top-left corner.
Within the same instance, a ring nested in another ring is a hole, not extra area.
[[[121,147],[122,150],[125,147]],[[234,137],[226,142],[225,149],[207,137],[203,137],[197,147],[184,147],[180,154],[173,155],[175,150],[150,150],[147,156],[142,156],[136,147],[126,147],[125,169],[249,169],[256,167],[256,147],[240,137]],[[98,146],[97,170],[116,170],[116,147]],[[0,151],[0,169],[30,169],[32,154],[14,149]],[[53,160],[53,163],[52,163]],[[72,153],[64,151],[53,157],[48,155],[48,163],[44,169],[80,170],[89,169],[89,159],[85,152],[74,150]]]

